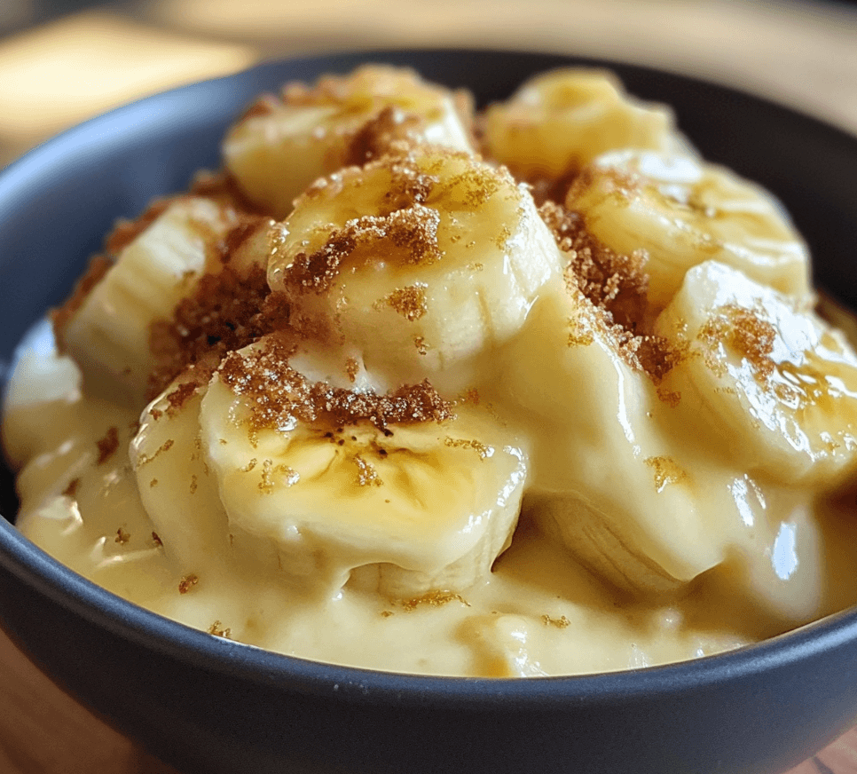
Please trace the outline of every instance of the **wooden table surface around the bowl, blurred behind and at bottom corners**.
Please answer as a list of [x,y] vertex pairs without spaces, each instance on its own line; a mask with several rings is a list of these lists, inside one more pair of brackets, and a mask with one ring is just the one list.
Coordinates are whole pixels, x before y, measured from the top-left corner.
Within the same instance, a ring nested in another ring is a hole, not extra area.
[[[24,8],[32,0],[2,2]],[[318,0],[307,8],[288,0],[126,0],[0,40],[0,164],[90,115],[258,59],[442,45],[651,64],[774,97],[857,133],[857,6]],[[175,774],[60,691],[2,634],[0,771]],[[857,774],[857,730],[790,774]]]

